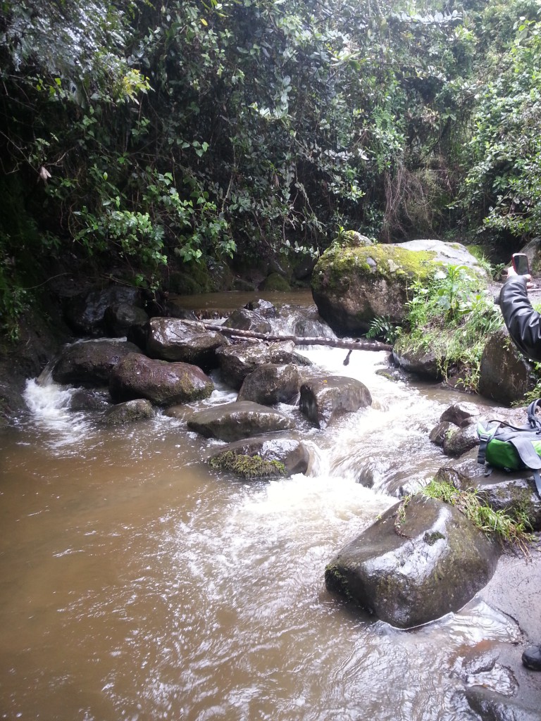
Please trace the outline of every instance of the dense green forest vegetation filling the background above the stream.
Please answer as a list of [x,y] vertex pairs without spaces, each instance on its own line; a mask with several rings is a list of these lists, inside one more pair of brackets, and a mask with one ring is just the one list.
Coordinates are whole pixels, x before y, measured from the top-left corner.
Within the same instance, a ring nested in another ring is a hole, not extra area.
[[157,288],[340,228],[539,234],[540,8],[2,0],[3,329],[57,260]]

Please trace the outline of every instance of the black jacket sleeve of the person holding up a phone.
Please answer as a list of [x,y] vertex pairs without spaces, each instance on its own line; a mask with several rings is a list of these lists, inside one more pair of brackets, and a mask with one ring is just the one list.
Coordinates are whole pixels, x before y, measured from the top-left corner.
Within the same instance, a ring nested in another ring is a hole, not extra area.
[[524,275],[512,275],[503,284],[500,307],[515,345],[532,361],[541,361],[541,315],[532,308]]

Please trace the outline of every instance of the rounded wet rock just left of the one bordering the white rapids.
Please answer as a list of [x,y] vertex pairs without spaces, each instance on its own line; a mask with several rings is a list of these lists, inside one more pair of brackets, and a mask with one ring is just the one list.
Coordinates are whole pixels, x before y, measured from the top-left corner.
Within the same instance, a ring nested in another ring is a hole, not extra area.
[[277,366],[263,363],[246,376],[237,397],[238,401],[253,401],[263,405],[289,403],[296,405],[301,381],[297,366]]

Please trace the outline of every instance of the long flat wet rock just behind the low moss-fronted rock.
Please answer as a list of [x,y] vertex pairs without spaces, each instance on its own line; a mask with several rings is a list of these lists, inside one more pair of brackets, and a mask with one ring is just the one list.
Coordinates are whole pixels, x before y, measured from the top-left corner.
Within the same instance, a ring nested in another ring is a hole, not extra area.
[[206,438],[219,438],[220,441],[228,443],[250,438],[252,435],[290,430],[294,427],[294,422],[285,414],[250,401],[206,408],[188,420],[190,430],[195,430]]

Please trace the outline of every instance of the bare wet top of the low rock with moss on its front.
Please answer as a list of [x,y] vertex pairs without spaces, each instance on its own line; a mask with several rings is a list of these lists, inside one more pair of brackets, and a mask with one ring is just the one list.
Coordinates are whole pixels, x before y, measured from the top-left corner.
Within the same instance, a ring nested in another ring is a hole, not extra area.
[[[237,456],[259,456],[263,461],[276,461],[283,465],[283,474],[292,476],[296,473],[306,473],[309,464],[309,451],[301,441],[294,438],[278,437],[276,434],[258,436],[229,443],[224,448],[212,454],[211,458],[223,454]],[[245,475],[245,474],[239,474]],[[278,475],[276,473],[276,475]]]

